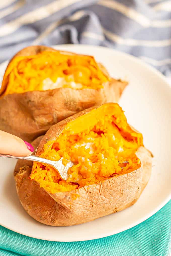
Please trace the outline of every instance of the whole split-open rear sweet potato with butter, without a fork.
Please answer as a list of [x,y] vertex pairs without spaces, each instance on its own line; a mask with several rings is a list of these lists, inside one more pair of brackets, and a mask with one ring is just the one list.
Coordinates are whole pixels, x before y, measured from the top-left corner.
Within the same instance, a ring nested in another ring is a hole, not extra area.
[[57,122],[118,102],[127,82],[109,77],[93,57],[30,46],[9,62],[0,89],[0,130],[32,141]]

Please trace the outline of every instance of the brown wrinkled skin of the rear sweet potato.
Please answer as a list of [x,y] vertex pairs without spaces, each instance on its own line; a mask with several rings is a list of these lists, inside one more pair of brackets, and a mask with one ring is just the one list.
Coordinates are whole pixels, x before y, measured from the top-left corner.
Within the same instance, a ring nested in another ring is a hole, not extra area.
[[[42,51],[56,50],[46,46],[30,46],[19,51],[10,62],[16,56],[35,55]],[[60,52],[73,55],[69,52]],[[101,64],[99,67],[107,74],[106,69]],[[0,90],[0,96],[2,96],[0,97],[0,130],[12,133],[28,142],[45,134],[52,125],[79,111],[106,102],[118,102],[127,86],[126,81],[112,78],[110,82],[104,83],[103,89],[98,90],[58,88],[3,96],[2,90],[5,89],[6,84],[5,71]]]

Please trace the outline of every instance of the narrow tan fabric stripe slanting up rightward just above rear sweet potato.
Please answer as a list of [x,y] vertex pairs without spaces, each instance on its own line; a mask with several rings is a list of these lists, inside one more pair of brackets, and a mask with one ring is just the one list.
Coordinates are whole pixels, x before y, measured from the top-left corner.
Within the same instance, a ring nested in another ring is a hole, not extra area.
[[86,14],[86,12],[84,10],[78,11],[75,14],[73,14],[72,16],[59,20],[57,22],[53,22],[51,25],[49,25],[45,31],[40,34],[33,42],[32,45],[38,45],[45,37],[47,37],[56,27],[60,26],[61,24],[65,23],[67,20],[69,21],[74,21],[77,19],[82,18],[84,15]]

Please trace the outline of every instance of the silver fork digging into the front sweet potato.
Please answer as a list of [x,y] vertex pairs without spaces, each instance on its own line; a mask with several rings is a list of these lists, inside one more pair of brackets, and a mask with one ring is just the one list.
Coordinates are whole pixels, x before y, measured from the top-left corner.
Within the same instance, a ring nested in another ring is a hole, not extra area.
[[[2,155],[0,154],[1,157],[9,157],[9,158],[17,158],[17,159],[24,159],[24,160],[29,160],[29,161],[34,161],[34,162],[39,162],[39,163],[42,163],[42,164],[47,164],[47,165],[50,165],[52,166],[53,168],[55,168],[59,175],[61,176],[61,178],[63,180],[67,180],[69,175],[68,175],[68,169],[71,168],[74,163],[72,161],[69,161],[66,166],[63,165],[62,163],[62,159],[63,157],[61,157],[60,160],[58,161],[53,161],[53,160],[49,160],[49,159],[46,159],[46,158],[43,158],[43,157],[40,157],[40,156],[34,156],[34,155],[30,155],[30,156],[11,156],[11,155]],[[128,162],[127,161],[124,161],[122,163],[119,163],[119,164],[127,164]],[[121,169],[123,169],[124,166],[121,167]]]

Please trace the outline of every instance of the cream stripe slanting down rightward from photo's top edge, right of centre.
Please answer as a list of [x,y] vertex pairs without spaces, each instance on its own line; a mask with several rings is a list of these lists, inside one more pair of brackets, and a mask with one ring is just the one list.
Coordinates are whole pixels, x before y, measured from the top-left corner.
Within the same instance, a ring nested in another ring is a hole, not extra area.
[[111,1],[111,0],[101,0],[97,4],[105,6],[110,9],[114,9],[124,14],[128,18],[136,21],[138,24],[142,25],[143,27],[149,27],[150,25],[150,20],[147,17],[138,13],[133,8],[125,6],[124,4],[118,3],[116,1]]

